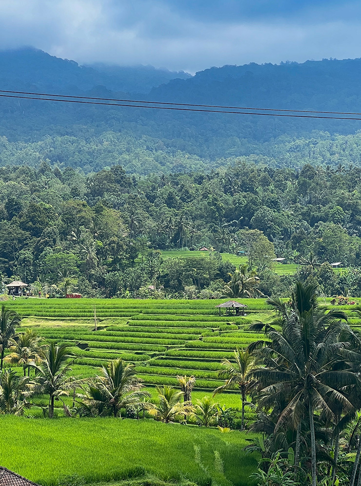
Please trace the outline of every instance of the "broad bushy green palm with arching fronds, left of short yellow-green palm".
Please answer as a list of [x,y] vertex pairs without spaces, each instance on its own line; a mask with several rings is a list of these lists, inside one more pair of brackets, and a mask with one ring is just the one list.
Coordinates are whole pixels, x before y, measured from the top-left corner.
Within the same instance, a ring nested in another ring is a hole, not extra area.
[[137,378],[135,366],[125,363],[120,358],[103,366],[103,375],[90,380],[89,388],[79,394],[82,404],[98,415],[114,417],[120,415],[120,409],[129,405],[139,405],[150,394],[141,390],[141,380]]

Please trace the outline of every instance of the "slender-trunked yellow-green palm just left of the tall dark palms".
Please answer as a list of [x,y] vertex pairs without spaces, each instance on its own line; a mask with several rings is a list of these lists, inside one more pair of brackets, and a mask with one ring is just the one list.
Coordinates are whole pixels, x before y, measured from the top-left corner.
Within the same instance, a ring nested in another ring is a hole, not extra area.
[[221,393],[224,390],[237,389],[241,393],[242,401],[242,417],[241,430],[244,429],[244,407],[246,405],[247,394],[250,393],[256,384],[254,379],[254,372],[258,368],[259,360],[256,355],[253,355],[248,349],[241,350],[237,348],[234,352],[235,361],[223,359],[223,370],[218,372],[220,378],[225,378],[224,385],[216,388],[213,396]]

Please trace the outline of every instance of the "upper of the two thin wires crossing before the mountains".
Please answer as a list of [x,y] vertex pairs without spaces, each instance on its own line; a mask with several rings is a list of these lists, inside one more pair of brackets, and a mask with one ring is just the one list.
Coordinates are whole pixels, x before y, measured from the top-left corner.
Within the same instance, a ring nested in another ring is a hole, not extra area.
[[[254,107],[245,107],[245,106],[202,105],[202,104],[192,104],[192,103],[173,103],[169,101],[145,101],[145,100],[119,99],[119,98],[96,98],[92,96],[76,96],[71,94],[30,93],[26,91],[0,90],[0,93],[32,94],[36,96],[54,96],[57,98],[93,99],[93,100],[100,100],[100,101],[121,101],[124,103],[146,103],[146,104],[154,104],[154,105],[193,106],[193,107],[198,106],[201,108],[224,108],[229,110],[260,110],[262,112],[294,112],[294,113],[324,113],[324,114],[334,114],[334,115],[361,115],[361,113],[358,112],[326,112],[320,110],[286,110],[281,108],[254,108]],[[22,98],[24,96],[18,96],[18,97]],[[37,99],[37,98],[30,98],[30,99]],[[40,98],[40,99],[46,99],[46,98]],[[57,101],[62,101],[62,100],[57,100]],[[123,105],[118,105],[118,106],[123,106]],[[206,111],[210,111],[210,110],[206,110]]]

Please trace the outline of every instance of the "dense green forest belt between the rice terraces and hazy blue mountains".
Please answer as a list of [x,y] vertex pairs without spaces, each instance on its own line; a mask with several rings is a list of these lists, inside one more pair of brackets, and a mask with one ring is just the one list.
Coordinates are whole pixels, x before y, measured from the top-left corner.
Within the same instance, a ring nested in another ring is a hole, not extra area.
[[[237,273],[220,253],[239,251],[262,294],[287,295],[296,279],[319,282],[324,295],[361,292],[361,168],[240,158],[208,174],[139,177],[114,166],[86,177],[42,162],[1,168],[0,201],[5,281],[50,294],[221,297]],[[202,246],[219,253],[192,257]],[[181,248],[188,258],[159,251]],[[276,275],[276,256],[300,264],[298,274]],[[335,273],[331,262],[347,268]]]

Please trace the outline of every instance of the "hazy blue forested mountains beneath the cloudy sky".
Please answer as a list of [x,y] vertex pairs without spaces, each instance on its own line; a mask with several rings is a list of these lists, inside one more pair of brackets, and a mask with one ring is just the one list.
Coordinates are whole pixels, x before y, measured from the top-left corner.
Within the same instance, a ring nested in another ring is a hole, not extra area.
[[[1,89],[259,108],[361,112],[361,59],[210,68],[190,76],[149,66],[79,66],[33,48],[0,53]],[[360,121],[172,112],[4,98],[0,162],[47,159],[86,172],[224,165],[361,165]],[[6,137],[6,138],[5,138]],[[266,157],[266,158],[264,158]]]

